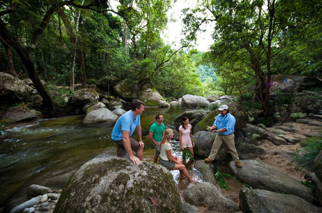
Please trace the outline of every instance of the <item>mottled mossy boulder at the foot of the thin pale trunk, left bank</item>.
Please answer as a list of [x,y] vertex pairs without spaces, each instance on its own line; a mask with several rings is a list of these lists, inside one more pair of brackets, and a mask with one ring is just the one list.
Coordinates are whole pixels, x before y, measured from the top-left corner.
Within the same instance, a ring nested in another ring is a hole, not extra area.
[[72,102],[77,106],[83,106],[98,100],[99,94],[94,89],[77,90],[72,97]]

